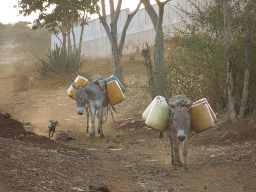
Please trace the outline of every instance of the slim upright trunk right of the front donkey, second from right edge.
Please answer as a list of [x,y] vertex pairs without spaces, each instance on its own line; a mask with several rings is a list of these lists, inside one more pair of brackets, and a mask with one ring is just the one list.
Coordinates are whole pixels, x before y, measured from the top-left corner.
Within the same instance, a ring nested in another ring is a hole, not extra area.
[[228,58],[227,65],[227,88],[228,88],[228,100],[229,100],[229,117],[232,122],[235,122],[237,118],[237,111],[235,110],[236,98],[235,98],[235,62],[232,50],[231,29],[229,21],[229,4],[228,0],[223,0],[223,13],[224,13],[224,29],[225,29],[225,41],[226,41],[226,54]]

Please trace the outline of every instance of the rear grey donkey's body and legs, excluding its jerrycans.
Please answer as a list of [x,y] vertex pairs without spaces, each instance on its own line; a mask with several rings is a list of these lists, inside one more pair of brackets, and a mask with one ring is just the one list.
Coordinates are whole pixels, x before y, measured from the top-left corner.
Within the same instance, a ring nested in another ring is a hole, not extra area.
[[[99,76],[96,76],[96,78],[97,77]],[[88,84],[88,82],[91,82],[91,84]],[[95,136],[95,113],[97,110],[99,110],[99,126],[97,128],[97,131],[98,131],[98,134],[100,134],[100,137],[103,137],[104,134],[102,130],[102,122],[103,122],[102,114],[103,114],[104,107],[107,107],[107,105],[109,105],[109,99],[107,98],[107,93],[105,91],[106,86],[102,85],[102,83],[96,84],[88,80],[85,83],[85,85],[82,85],[79,87],[77,87],[75,81],[72,81],[72,87],[75,90],[73,98],[75,99],[77,104],[77,114],[83,115],[85,108],[87,112],[87,119],[88,119],[88,111],[91,114],[92,130],[91,130],[91,133],[89,134],[90,138],[93,138]],[[87,127],[87,130],[88,130],[88,127]]]

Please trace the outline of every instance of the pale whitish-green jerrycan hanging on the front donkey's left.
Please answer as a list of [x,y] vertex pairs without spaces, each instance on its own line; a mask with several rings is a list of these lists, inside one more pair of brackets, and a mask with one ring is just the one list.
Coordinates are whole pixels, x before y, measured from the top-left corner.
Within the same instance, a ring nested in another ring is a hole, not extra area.
[[163,101],[154,102],[145,124],[152,129],[164,132],[168,124],[170,107]]

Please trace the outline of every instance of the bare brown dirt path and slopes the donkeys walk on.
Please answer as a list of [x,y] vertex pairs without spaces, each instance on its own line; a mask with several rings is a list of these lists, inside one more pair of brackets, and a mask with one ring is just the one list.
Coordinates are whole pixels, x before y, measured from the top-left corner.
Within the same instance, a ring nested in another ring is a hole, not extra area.
[[[151,102],[143,58],[123,61],[126,99],[115,106],[116,122],[109,114],[102,139],[88,139],[86,116],[77,115],[68,87],[29,95],[14,92],[13,74],[33,72],[0,74],[0,191],[89,190],[96,179],[111,191],[256,191],[255,116],[235,124],[218,117],[215,127],[191,134],[191,173],[172,170],[167,136],[159,141],[141,117]],[[102,63],[88,61],[86,69],[107,78],[111,65]],[[50,120],[60,124],[51,139]],[[56,140],[63,134],[75,140]]]

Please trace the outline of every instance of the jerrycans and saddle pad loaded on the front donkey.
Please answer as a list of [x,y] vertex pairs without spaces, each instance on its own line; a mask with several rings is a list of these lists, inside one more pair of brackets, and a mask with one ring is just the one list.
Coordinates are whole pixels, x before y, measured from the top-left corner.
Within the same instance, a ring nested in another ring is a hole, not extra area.
[[[185,106],[189,100],[183,95],[174,95],[171,102],[181,102]],[[205,131],[215,126],[216,116],[211,109],[208,101],[203,98],[194,102],[190,109],[191,128],[195,132]],[[165,97],[156,96],[151,104],[142,114],[145,124],[157,131],[164,132],[166,125],[173,122],[173,111],[168,107]]]

